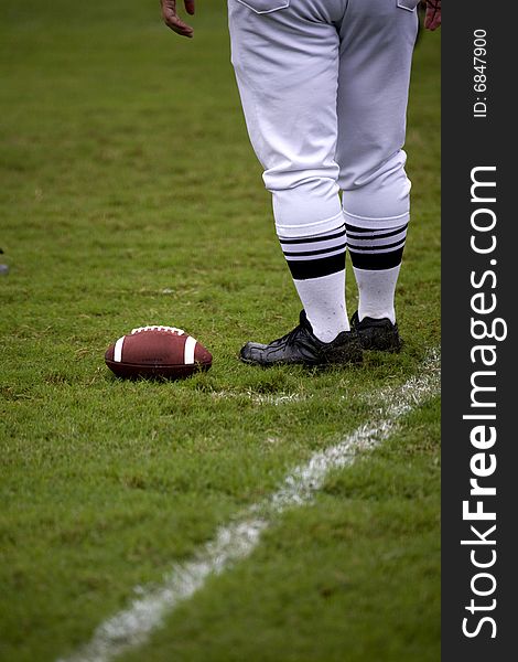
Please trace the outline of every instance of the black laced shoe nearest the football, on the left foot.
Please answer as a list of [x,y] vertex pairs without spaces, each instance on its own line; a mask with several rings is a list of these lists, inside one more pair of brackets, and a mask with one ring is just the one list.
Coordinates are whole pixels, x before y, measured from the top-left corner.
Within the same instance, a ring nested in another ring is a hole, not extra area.
[[343,365],[361,363],[361,345],[354,331],[343,331],[332,342],[322,342],[313,334],[305,312],[299,325],[270,344],[247,342],[239,352],[244,363],[252,365]]

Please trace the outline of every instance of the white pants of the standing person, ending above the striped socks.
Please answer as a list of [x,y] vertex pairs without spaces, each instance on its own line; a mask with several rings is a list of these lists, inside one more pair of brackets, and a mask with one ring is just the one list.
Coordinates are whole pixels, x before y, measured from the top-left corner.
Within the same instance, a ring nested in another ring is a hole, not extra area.
[[[402,151],[419,0],[228,0],[278,234],[409,220]],[[338,191],[343,193],[343,209]]]

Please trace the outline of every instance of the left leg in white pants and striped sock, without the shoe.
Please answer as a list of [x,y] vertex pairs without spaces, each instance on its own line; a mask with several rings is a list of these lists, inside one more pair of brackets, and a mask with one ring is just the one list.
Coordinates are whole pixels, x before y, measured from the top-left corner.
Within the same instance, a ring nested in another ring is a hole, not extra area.
[[[344,0],[229,0],[231,56],[276,228],[313,333],[349,330],[335,161]],[[265,12],[265,13],[258,13]]]

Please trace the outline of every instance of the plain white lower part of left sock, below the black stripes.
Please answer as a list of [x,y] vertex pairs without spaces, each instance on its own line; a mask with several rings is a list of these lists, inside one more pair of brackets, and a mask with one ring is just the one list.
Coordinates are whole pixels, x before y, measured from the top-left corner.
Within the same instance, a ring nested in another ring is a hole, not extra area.
[[345,270],[320,278],[293,279],[293,282],[319,340],[331,342],[342,331],[349,331],[345,305]]

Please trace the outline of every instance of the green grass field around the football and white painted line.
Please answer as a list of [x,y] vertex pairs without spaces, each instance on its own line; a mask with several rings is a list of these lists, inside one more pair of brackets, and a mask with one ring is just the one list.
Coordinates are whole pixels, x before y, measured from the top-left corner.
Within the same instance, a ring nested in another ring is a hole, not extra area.
[[[155,0],[0,6],[0,659],[87,642],[290,470],[370,420],[440,342],[440,36],[417,49],[413,221],[398,290],[404,350],[361,367],[256,370],[237,352],[292,328],[229,64],[223,0],[196,36]],[[356,291],[348,279],[348,306]],[[126,383],[106,348],[186,329],[213,369]],[[374,403],[374,404],[373,404]],[[440,659],[440,401],[428,398],[252,554],[120,659]]]

